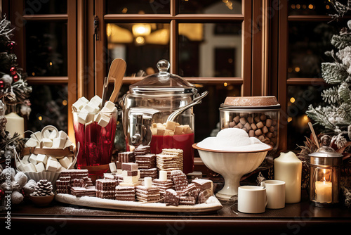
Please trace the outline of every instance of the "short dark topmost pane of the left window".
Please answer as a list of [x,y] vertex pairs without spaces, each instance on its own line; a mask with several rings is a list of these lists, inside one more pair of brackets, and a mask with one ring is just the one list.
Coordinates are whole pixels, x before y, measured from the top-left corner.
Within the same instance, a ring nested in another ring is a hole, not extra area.
[[67,13],[67,1],[25,1],[25,15],[65,13]]

